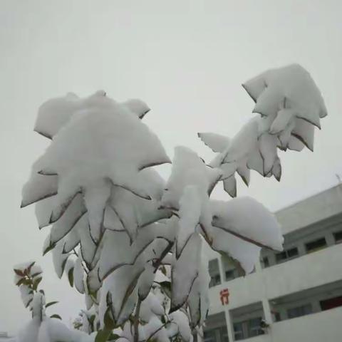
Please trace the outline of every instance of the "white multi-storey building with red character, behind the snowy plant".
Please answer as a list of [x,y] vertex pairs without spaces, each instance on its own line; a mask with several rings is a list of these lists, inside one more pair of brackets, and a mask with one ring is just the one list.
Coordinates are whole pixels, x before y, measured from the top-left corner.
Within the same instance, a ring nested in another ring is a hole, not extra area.
[[[276,212],[284,252],[262,250],[254,273],[209,252],[205,342],[342,341],[342,186]],[[229,303],[220,293],[229,291]],[[266,323],[266,324],[265,324]]]

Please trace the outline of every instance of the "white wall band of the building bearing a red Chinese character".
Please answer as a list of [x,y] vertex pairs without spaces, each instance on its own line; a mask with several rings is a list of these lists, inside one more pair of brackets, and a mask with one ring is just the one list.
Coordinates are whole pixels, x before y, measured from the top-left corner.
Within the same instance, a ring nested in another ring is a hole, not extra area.
[[[224,282],[209,289],[209,314],[223,311],[219,291],[229,289],[229,310],[252,304],[262,299],[275,299],[304,289],[328,284],[341,279],[342,244],[306,254],[303,257],[257,269],[253,274]],[[342,338],[341,338],[342,341]]]

